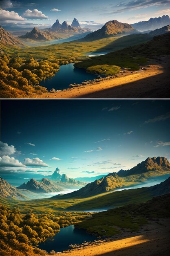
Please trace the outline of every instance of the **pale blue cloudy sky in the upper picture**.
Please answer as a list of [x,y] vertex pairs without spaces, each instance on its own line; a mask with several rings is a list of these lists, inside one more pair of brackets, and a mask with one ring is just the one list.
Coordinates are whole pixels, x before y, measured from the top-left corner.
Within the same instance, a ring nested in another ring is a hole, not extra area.
[[51,27],[56,19],[95,30],[109,20],[134,23],[170,15],[170,0],[1,0],[1,25],[6,29]]

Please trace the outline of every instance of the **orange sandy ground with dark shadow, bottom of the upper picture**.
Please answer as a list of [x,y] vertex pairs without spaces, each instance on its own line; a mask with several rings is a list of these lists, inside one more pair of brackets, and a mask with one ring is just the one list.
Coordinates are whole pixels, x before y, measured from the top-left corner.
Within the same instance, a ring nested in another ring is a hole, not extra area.
[[106,81],[80,85],[68,90],[34,95],[35,98],[167,98],[170,94],[169,56],[151,61],[146,70],[125,72]]

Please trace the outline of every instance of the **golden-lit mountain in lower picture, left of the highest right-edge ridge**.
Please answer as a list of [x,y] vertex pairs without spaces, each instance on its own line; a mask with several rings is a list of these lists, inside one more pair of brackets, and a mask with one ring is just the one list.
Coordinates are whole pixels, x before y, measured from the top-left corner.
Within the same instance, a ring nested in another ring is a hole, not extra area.
[[[112,191],[116,188],[123,187],[124,179],[119,177],[116,173],[110,173],[105,177],[102,177],[99,180],[95,180],[94,182],[88,183],[83,188],[69,193],[67,195],[63,195],[63,198],[72,198],[72,197],[82,197],[87,198],[92,195],[97,195],[105,192]],[[55,198],[55,197],[53,197]]]

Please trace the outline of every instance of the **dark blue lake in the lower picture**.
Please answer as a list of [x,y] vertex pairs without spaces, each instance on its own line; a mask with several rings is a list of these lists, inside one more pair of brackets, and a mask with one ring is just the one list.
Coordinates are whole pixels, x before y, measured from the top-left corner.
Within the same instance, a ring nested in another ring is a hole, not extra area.
[[69,245],[80,245],[86,242],[96,240],[96,236],[86,233],[84,229],[76,229],[74,225],[63,227],[60,232],[53,237],[53,241],[47,239],[44,243],[39,244],[39,248],[46,252],[63,252],[68,249]]

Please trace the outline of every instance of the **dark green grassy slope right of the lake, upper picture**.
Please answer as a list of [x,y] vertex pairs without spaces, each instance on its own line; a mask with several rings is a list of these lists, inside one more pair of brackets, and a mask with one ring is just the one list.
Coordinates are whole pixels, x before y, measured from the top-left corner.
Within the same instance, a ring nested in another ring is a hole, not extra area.
[[[142,45],[124,48],[117,52],[110,52],[107,55],[93,57],[91,60],[81,61],[76,63],[76,66],[86,69],[87,72],[99,73],[103,65],[108,65],[108,69],[102,74],[113,74],[115,65],[130,70],[139,70],[141,64],[146,64],[147,58],[164,54],[170,54],[170,33],[153,38],[153,40]],[[113,72],[110,72],[109,66],[113,66]]]

